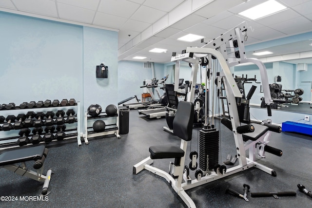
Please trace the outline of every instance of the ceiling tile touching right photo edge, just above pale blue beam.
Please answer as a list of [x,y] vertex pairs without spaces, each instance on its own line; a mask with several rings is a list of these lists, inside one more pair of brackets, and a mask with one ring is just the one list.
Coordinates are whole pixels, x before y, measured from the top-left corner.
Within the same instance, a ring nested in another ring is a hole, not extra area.
[[274,28],[275,30],[279,30],[285,34],[292,34],[292,33],[299,34],[299,33],[307,32],[307,31],[311,31],[312,22],[308,19],[300,17],[300,18],[295,18],[295,19],[290,19],[287,21],[279,22],[278,24],[271,25],[270,27]]

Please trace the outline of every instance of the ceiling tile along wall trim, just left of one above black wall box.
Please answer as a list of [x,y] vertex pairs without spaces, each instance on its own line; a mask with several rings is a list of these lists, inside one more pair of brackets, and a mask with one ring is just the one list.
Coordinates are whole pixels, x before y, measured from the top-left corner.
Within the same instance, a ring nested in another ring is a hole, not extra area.
[[92,23],[95,11],[84,9],[77,6],[71,6],[68,4],[58,3],[59,18],[69,19],[78,22]]

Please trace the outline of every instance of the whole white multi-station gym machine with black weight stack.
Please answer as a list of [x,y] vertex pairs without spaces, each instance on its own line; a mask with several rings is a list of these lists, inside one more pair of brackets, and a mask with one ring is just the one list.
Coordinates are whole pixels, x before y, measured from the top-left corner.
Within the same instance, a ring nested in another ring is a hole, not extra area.
[[[191,163],[185,166],[185,152],[190,140],[181,139],[180,150],[183,152],[183,156],[175,152],[162,151],[159,148],[159,152],[151,150],[151,156],[137,163],[133,167],[133,173],[137,174],[141,170],[149,170],[167,180],[176,193],[181,197],[188,207],[195,208],[195,203],[191,197],[185,192],[187,189],[210,183],[220,178],[232,175],[234,173],[248,170],[252,167],[263,170],[273,176],[276,176],[276,172],[259,163],[257,160],[265,158],[265,152],[270,152],[275,155],[281,156],[282,151],[268,146],[271,132],[281,132],[279,126],[274,126],[268,123],[251,123],[249,118],[249,100],[255,91],[255,86],[251,88],[248,95],[243,95],[239,90],[237,83],[230,71],[230,67],[236,66],[240,63],[254,63],[258,66],[261,75],[261,82],[263,86],[265,107],[268,109],[268,115],[271,115],[271,104],[273,100],[270,95],[267,71],[265,65],[254,58],[247,58],[245,54],[244,42],[246,40],[246,32],[248,26],[246,22],[243,22],[231,29],[230,31],[220,35],[214,40],[206,43],[201,48],[187,47],[186,50],[180,54],[172,57],[172,61],[176,62],[175,73],[175,91],[178,91],[178,78],[180,61],[186,61],[192,63],[192,73],[190,79],[190,92],[187,95],[187,101],[193,102],[196,75],[199,68],[200,60],[203,57],[208,58],[208,65],[206,67],[206,86],[207,80],[209,83],[216,83],[217,88],[221,88],[223,85],[225,89],[225,96],[228,104],[229,118],[223,118],[221,123],[227,128],[232,130],[235,140],[235,148],[237,154],[238,165],[226,168],[224,165],[219,165],[219,132],[214,126],[207,124],[207,109],[205,111],[205,124],[200,130],[199,138],[199,152],[192,151],[190,153]],[[245,37],[245,38],[244,38]],[[230,50],[230,52],[228,51]],[[234,54],[232,57],[228,57],[228,54]],[[218,61],[222,68],[222,72],[216,73],[216,76],[212,76],[212,62]],[[212,79],[212,81],[210,81]],[[216,80],[216,81],[215,81]],[[213,85],[214,86],[214,85]],[[207,89],[206,89],[207,93]],[[205,96],[207,99],[207,95]],[[206,102],[205,102],[206,104]],[[184,105],[184,104],[183,104]],[[244,106],[238,108],[238,106]],[[239,110],[242,109],[242,110]],[[179,107],[178,107],[179,110]],[[177,110],[177,113],[178,113]],[[243,114],[243,116],[239,116]],[[175,129],[174,129],[175,132]],[[191,136],[192,137],[192,136]],[[158,147],[157,147],[158,148]],[[166,149],[166,148],[165,148]],[[246,155],[246,151],[249,151],[249,157]],[[160,155],[159,157],[155,155]],[[199,157],[199,169],[197,167],[197,158]],[[166,172],[151,166],[153,159],[151,158],[175,158],[175,162],[170,164],[170,172]],[[196,170],[195,179],[191,178],[188,169]],[[183,179],[183,180],[182,180]]]

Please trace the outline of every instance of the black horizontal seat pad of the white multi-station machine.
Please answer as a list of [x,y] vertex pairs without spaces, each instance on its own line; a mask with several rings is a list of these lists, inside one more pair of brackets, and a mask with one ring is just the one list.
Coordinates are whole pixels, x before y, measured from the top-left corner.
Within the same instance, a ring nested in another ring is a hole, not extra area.
[[151,152],[151,159],[177,158],[184,156],[184,151],[181,150],[180,147],[170,145],[151,146],[149,151]]

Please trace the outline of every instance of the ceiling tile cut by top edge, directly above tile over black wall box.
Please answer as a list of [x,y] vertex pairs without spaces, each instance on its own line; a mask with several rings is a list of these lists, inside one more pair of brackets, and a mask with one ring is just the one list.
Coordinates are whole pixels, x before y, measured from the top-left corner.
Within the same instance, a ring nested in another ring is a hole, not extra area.
[[123,18],[130,18],[139,4],[127,0],[101,0],[98,11]]

